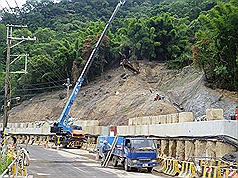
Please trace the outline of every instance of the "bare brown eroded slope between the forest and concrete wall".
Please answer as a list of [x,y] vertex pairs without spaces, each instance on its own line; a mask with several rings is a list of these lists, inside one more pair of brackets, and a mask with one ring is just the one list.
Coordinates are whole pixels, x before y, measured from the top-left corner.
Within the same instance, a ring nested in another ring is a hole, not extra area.
[[[100,125],[125,125],[129,118],[192,111],[195,117],[208,108],[224,109],[234,115],[236,93],[212,90],[205,86],[203,73],[193,67],[168,70],[162,63],[134,63],[140,74],[122,67],[105,73],[82,86],[71,109],[72,118],[99,120]],[[154,101],[156,93],[164,100]],[[62,96],[65,96],[64,99]],[[67,101],[66,91],[40,94],[9,112],[9,122],[57,120]]]

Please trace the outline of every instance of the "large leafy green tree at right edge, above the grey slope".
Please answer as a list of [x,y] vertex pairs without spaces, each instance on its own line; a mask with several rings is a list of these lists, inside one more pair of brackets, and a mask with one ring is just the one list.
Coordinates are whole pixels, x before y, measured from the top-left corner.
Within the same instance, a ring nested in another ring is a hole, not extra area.
[[205,30],[196,33],[196,62],[214,87],[238,90],[238,7],[218,3],[199,16]]

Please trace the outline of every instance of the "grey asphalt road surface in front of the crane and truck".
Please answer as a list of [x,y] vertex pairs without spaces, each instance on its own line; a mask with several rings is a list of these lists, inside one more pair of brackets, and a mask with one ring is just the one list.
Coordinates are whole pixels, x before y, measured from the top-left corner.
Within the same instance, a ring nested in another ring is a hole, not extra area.
[[[24,146],[25,147],[25,146]],[[95,155],[81,149],[50,149],[27,146],[30,166],[29,177],[33,178],[161,178],[156,172],[130,171],[122,167],[102,168]]]

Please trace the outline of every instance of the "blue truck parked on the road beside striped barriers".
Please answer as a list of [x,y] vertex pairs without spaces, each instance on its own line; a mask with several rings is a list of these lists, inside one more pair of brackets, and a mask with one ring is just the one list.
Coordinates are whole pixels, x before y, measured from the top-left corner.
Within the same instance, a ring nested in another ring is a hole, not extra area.
[[[103,141],[107,140],[112,145],[115,138],[113,136],[98,137],[99,156],[102,156]],[[158,166],[157,145],[152,138],[117,137],[117,142],[111,149],[110,159],[114,167],[120,163],[126,171],[146,168],[148,172],[151,172],[153,167]]]

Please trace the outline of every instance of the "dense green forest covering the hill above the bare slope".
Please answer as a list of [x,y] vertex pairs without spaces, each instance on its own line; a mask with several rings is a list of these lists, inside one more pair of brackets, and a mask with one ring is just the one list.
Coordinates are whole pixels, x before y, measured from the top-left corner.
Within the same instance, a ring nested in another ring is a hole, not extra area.
[[[0,11],[0,87],[5,81],[6,24],[28,26],[14,28],[14,37],[37,38],[11,49],[11,54],[30,55],[28,73],[10,78],[12,97],[24,99],[64,87],[66,78],[78,78],[116,4],[115,0],[28,0],[20,9]],[[212,87],[238,91],[237,27],[237,0],[128,0],[87,79],[118,65],[119,51],[131,49],[134,60],[163,61],[173,69],[194,64],[204,70]],[[21,57],[10,70],[23,68]]]

